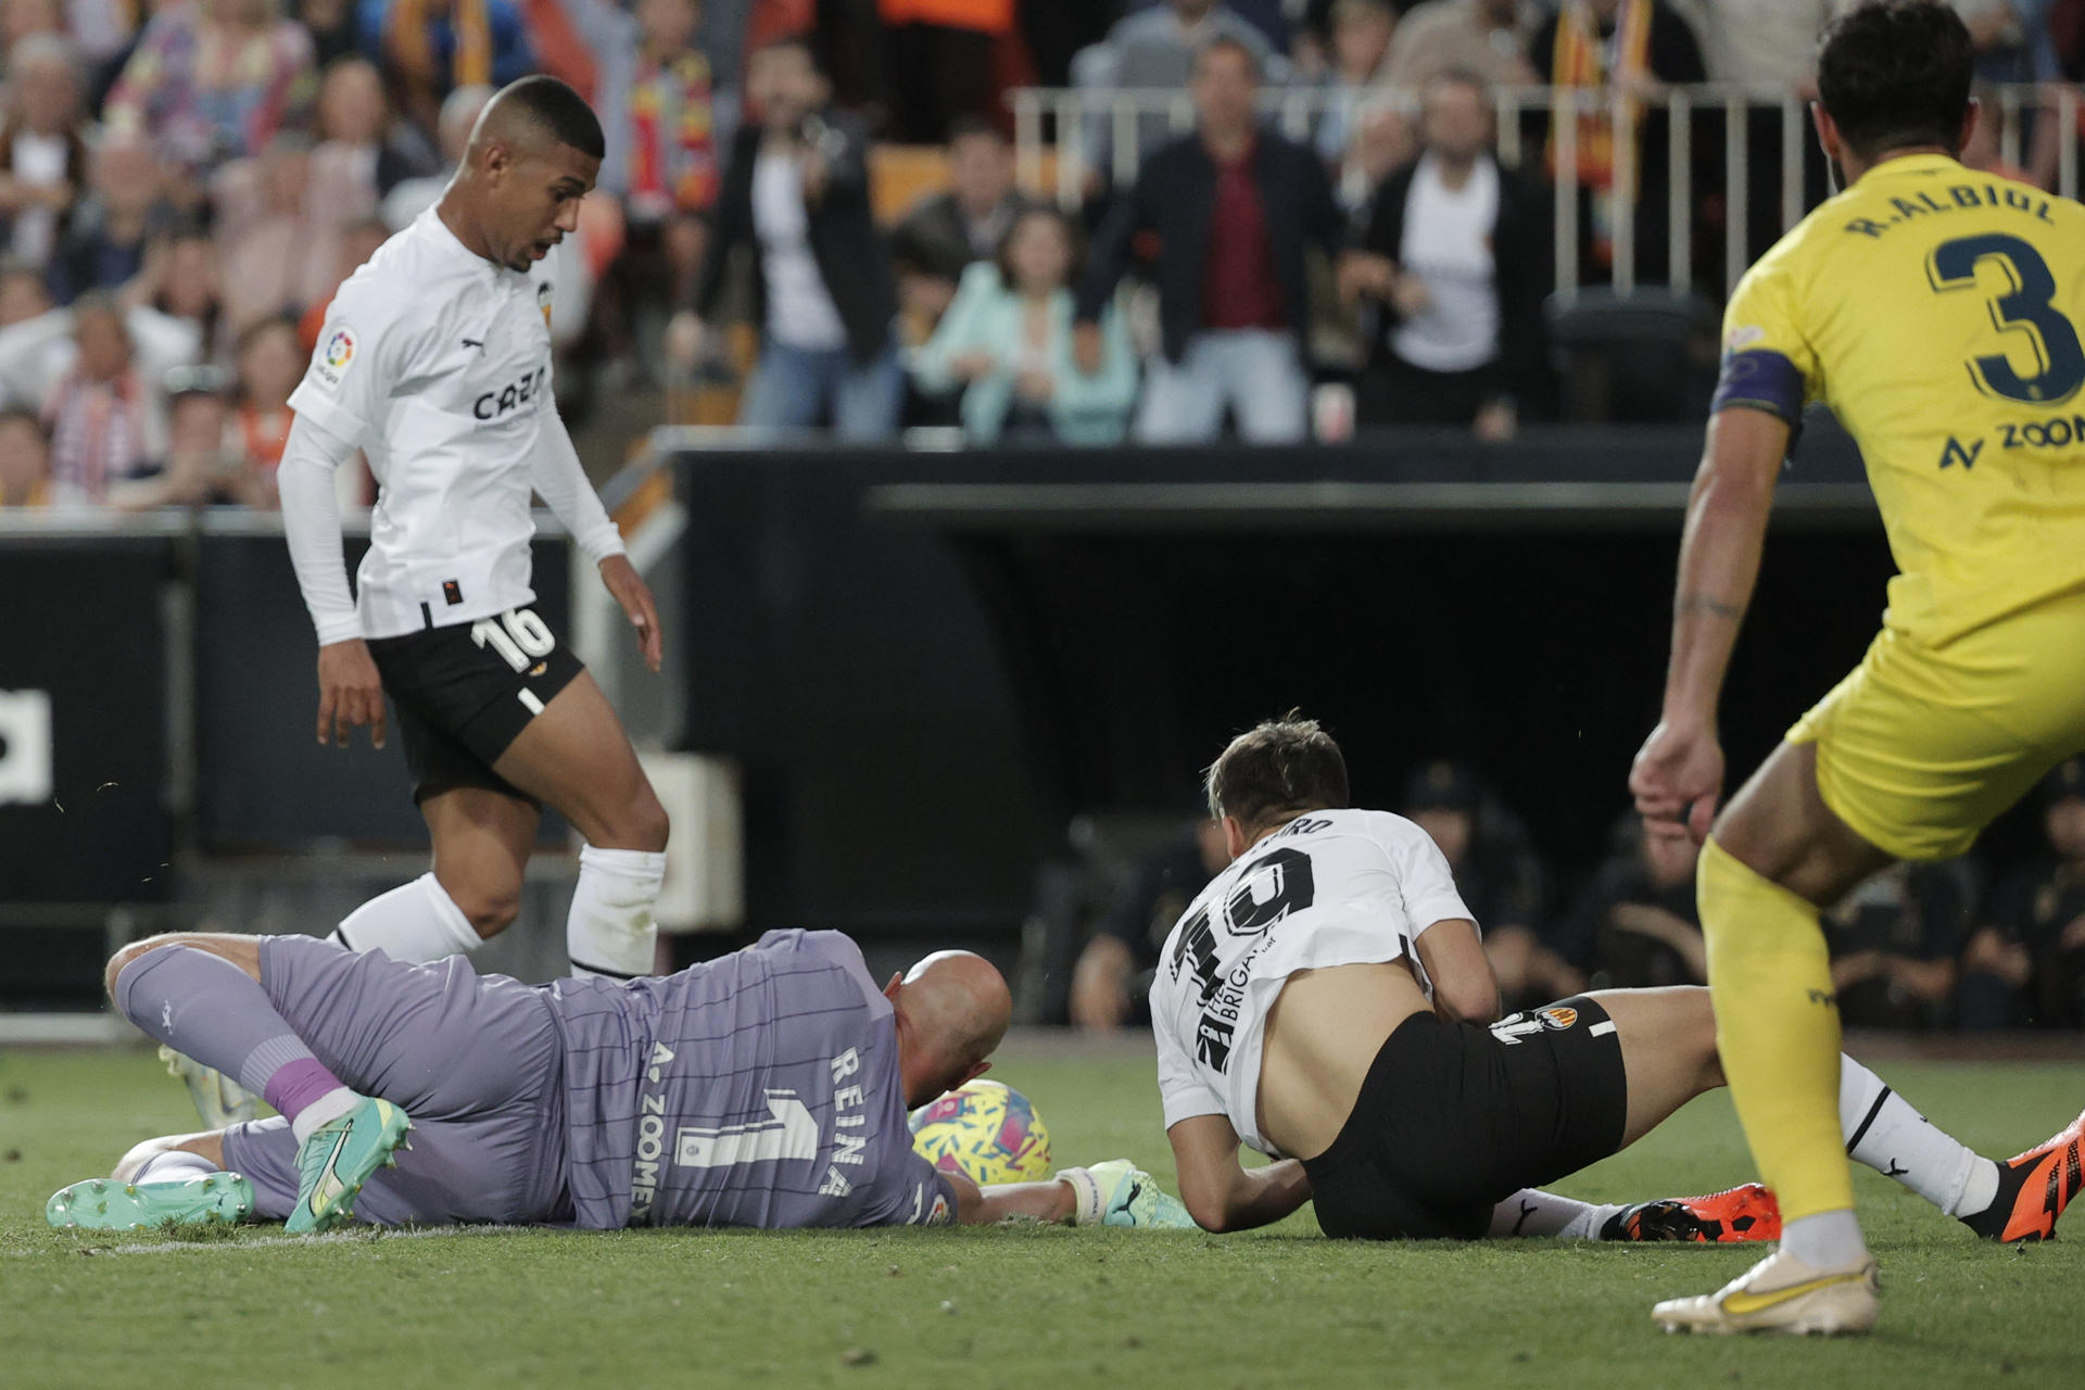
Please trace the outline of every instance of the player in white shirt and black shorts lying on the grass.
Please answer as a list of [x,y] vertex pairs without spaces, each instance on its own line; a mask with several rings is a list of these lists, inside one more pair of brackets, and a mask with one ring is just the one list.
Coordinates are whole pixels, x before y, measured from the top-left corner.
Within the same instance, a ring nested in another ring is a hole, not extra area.
[[[1209,769],[1232,865],[1172,929],[1151,984],[1180,1196],[1207,1230],[1316,1200],[1328,1236],[1770,1240],[1772,1196],[1599,1207],[1545,1182],[1722,1086],[1703,988],[1601,990],[1497,1019],[1447,861],[1412,821],[1347,806],[1314,721],[1264,723]],[[2081,1130],[2010,1163],[1839,1059],[1854,1159],[1995,1240],[2039,1240],[2077,1188]],[[1247,1171],[1238,1144],[1278,1159]]]

